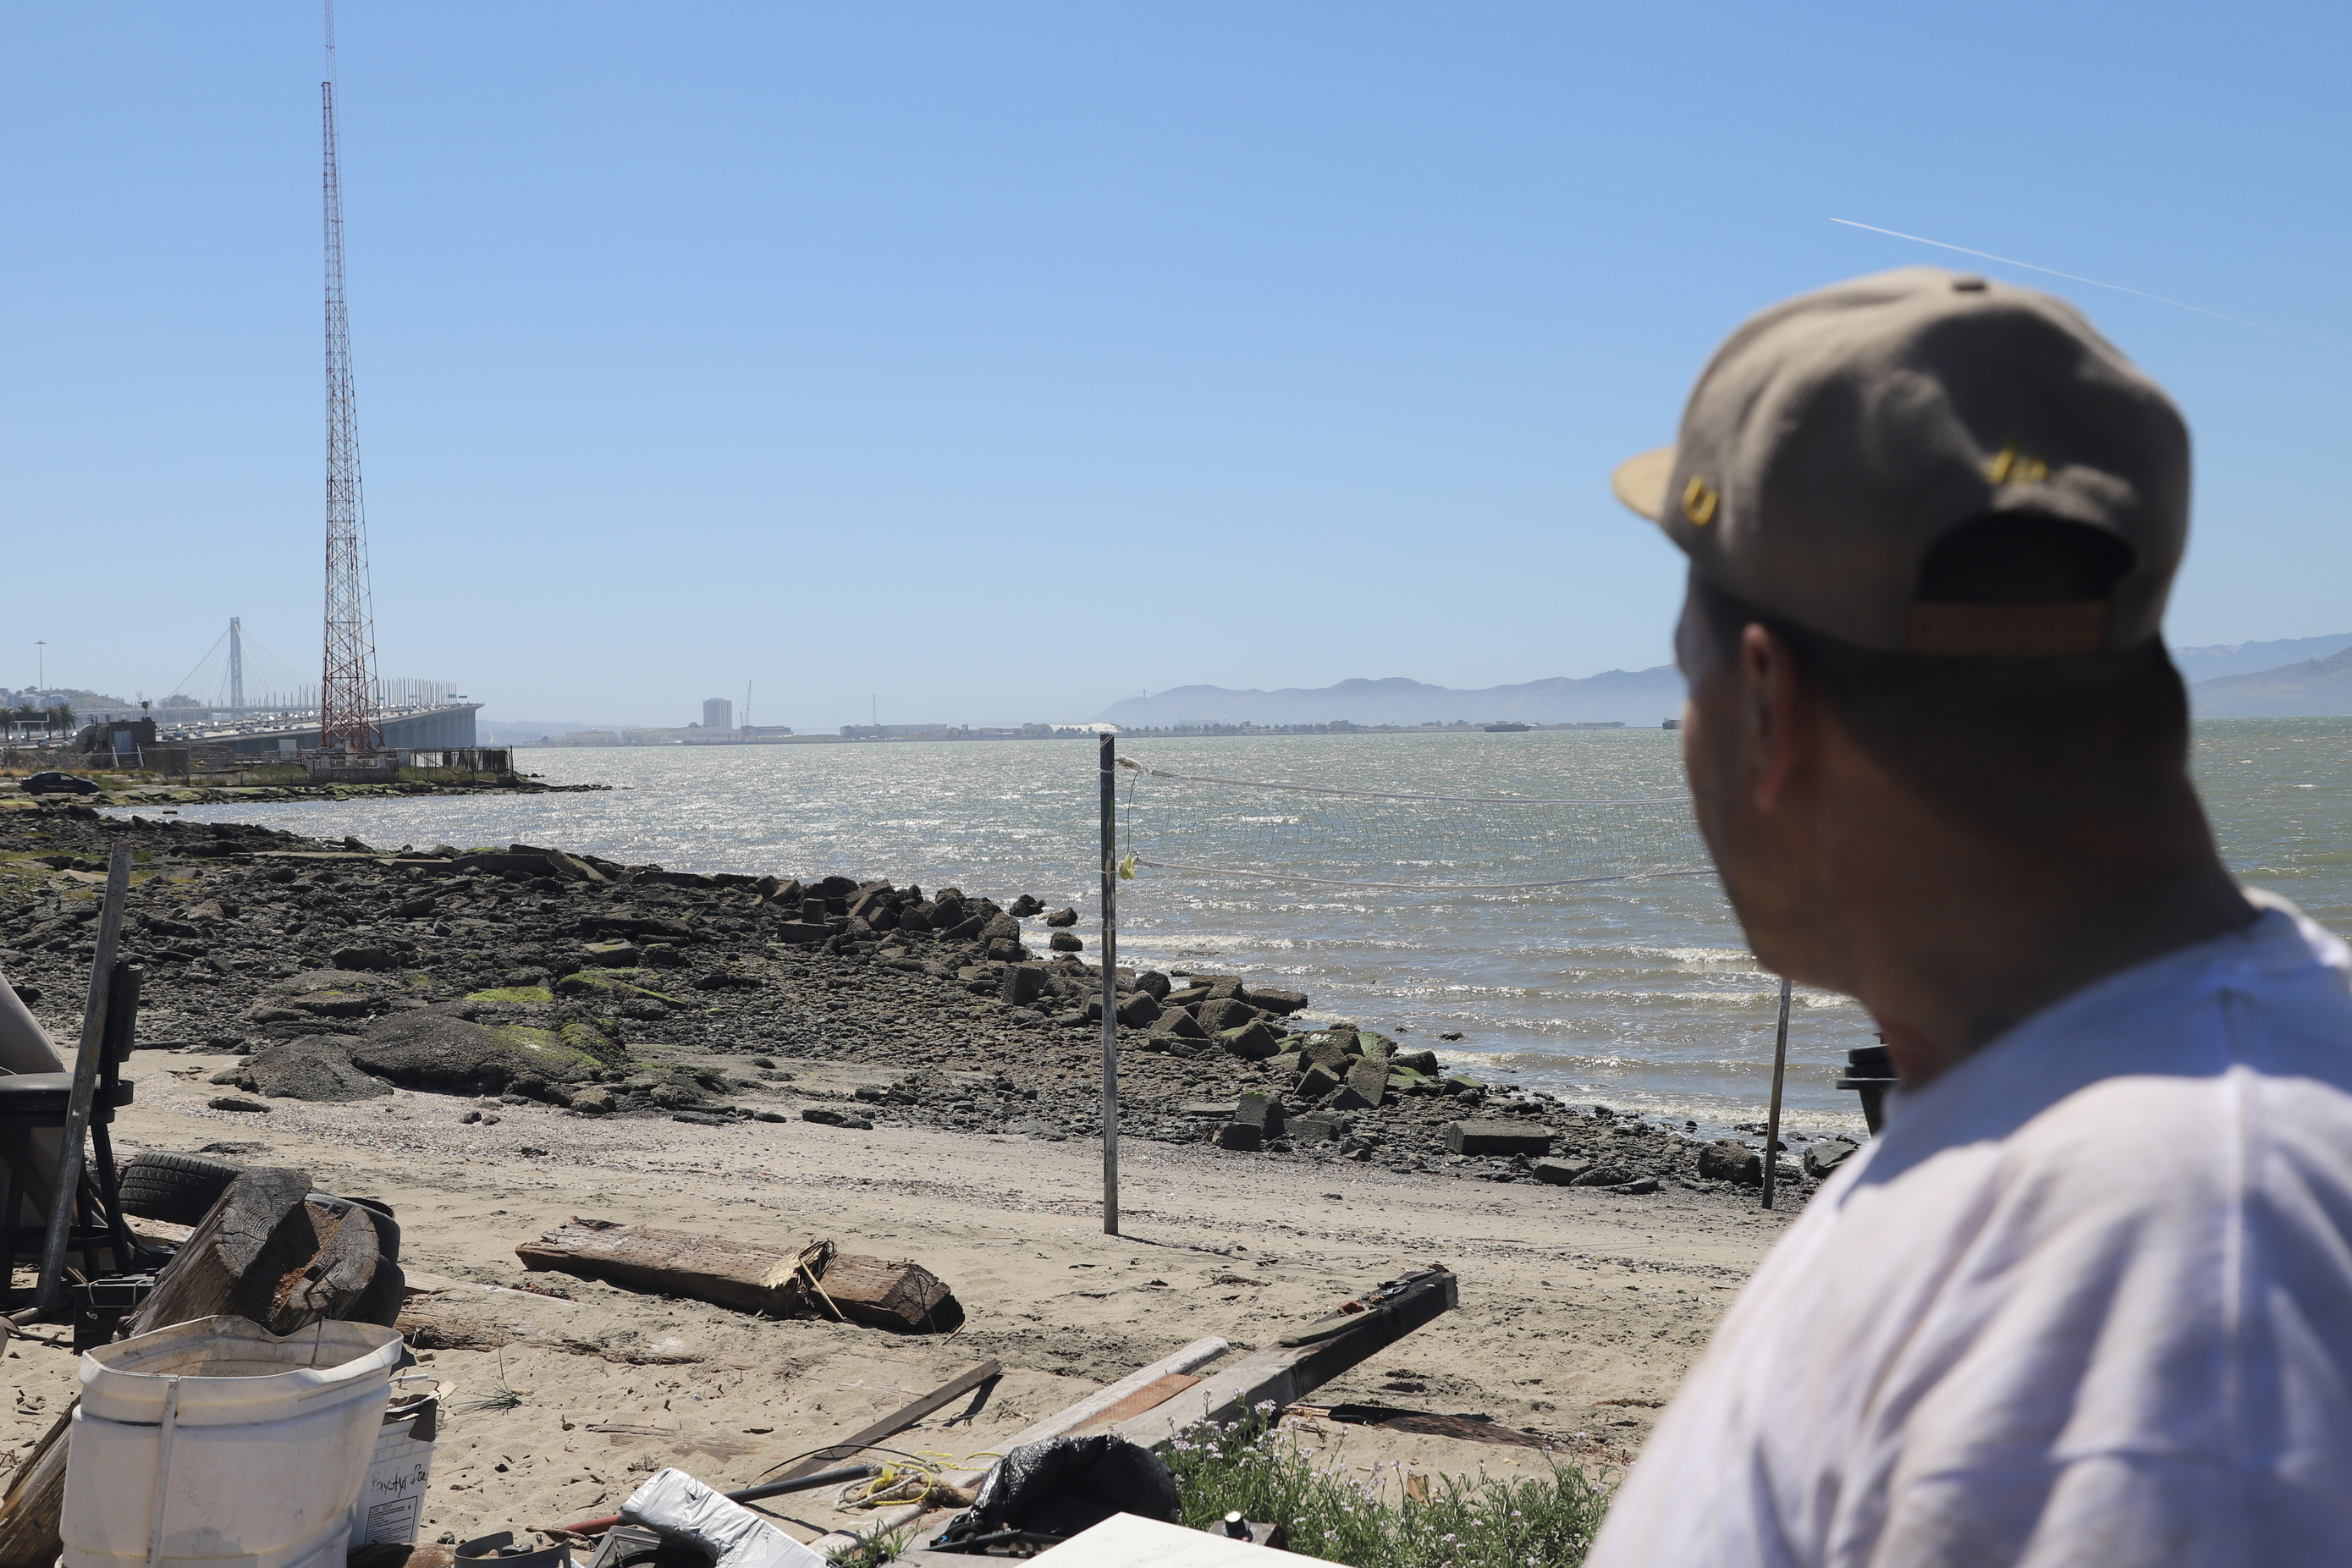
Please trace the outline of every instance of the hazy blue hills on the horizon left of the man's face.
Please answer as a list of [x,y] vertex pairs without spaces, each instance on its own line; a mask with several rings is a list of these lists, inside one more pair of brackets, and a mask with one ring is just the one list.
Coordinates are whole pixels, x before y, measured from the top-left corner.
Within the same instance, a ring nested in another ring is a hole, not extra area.
[[1682,672],[1609,670],[1569,679],[1524,682],[1456,691],[1392,675],[1343,679],[1336,686],[1284,686],[1282,691],[1228,691],[1225,686],[1174,686],[1131,696],[1094,715],[1120,729],[1176,729],[1183,724],[1658,724],[1682,712]]

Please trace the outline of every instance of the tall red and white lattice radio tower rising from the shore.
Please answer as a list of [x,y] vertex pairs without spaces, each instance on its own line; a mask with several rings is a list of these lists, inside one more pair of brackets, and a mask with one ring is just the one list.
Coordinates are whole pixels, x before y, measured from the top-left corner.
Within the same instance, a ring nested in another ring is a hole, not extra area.
[[376,731],[376,621],[367,592],[367,512],[360,498],[360,407],[350,395],[350,317],[343,313],[343,181],[334,158],[334,0],[327,0],[327,675],[318,743],[369,752]]

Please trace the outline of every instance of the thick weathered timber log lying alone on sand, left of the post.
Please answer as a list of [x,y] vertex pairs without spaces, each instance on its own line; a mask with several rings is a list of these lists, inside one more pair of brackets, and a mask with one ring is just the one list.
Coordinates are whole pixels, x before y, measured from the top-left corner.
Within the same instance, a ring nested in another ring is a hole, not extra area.
[[948,1331],[962,1321],[955,1295],[922,1265],[840,1255],[830,1241],[769,1246],[574,1215],[569,1225],[517,1246],[515,1258],[527,1269],[604,1279],[741,1312],[840,1316],[915,1331]]

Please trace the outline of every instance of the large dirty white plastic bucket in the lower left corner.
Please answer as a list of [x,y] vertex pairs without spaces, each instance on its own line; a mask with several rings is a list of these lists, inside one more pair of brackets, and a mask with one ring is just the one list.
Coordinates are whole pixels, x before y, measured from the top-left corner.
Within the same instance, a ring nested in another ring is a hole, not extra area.
[[383,1427],[400,1331],[240,1316],[82,1354],[66,1448],[66,1568],[339,1563]]

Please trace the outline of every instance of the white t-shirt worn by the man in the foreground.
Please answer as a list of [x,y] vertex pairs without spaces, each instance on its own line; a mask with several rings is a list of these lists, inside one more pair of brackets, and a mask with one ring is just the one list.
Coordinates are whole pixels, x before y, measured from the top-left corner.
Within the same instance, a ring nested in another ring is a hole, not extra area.
[[2352,950],[2251,898],[1893,1095],[1588,1568],[2352,1563]]

